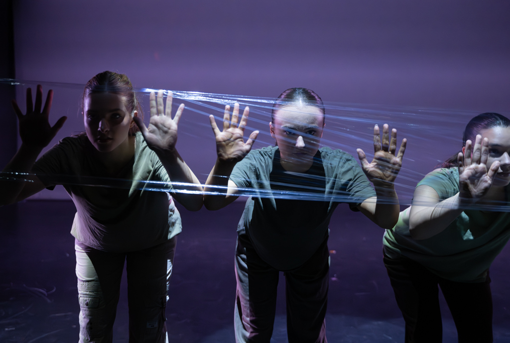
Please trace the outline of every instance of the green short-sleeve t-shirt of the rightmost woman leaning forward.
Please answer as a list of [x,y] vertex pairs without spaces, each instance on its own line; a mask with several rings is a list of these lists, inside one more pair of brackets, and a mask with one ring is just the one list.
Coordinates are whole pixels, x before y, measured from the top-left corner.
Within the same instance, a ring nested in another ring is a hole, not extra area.
[[[421,180],[441,201],[458,193],[458,168],[439,169]],[[508,187],[506,188],[508,192]],[[383,244],[391,258],[405,256],[430,272],[457,282],[483,282],[492,261],[510,239],[510,213],[465,210],[446,229],[425,240],[409,233],[409,208],[386,230]]]

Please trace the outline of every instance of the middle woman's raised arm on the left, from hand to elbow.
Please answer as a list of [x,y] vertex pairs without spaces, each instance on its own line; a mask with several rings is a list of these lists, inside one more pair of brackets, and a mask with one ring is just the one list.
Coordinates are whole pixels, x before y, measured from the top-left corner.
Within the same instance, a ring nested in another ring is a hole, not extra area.
[[239,103],[236,102],[234,105],[232,121],[230,120],[230,106],[226,105],[223,115],[223,131],[218,129],[214,116],[209,116],[216,137],[218,157],[211,173],[209,173],[204,189],[204,204],[207,209],[217,210],[223,208],[237,198],[237,186],[229,180],[230,174],[236,164],[244,159],[244,156],[251,150],[251,146],[259,134],[259,131],[253,131],[244,143],[243,135],[248,121],[248,114],[249,108],[246,107],[238,125]]

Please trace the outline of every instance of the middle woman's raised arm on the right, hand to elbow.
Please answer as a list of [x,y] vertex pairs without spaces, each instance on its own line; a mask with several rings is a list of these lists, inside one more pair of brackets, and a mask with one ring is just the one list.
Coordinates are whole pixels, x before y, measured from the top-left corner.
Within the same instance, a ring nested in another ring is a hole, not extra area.
[[392,129],[391,141],[389,127],[382,126],[382,144],[379,137],[379,127],[374,126],[374,159],[368,163],[365,152],[357,149],[361,166],[365,175],[374,184],[375,197],[368,198],[358,208],[375,224],[385,229],[391,229],[398,221],[400,206],[395,192],[395,178],[402,166],[402,157],[407,140],[404,138],[397,149],[397,130]]

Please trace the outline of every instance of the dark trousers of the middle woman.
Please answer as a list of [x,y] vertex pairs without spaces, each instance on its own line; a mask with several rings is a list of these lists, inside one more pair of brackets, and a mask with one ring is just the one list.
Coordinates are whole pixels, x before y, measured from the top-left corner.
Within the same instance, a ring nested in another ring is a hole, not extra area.
[[[259,257],[248,236],[240,235],[236,248],[234,313],[238,343],[269,343],[276,311],[278,274],[278,270]],[[289,343],[325,343],[329,281],[327,240],[307,262],[284,275]]]

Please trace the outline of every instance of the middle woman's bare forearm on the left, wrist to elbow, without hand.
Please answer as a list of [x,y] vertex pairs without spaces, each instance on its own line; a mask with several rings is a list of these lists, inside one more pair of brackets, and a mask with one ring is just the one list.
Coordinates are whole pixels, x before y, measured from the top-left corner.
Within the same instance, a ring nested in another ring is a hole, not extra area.
[[219,159],[209,173],[204,188],[203,202],[207,209],[217,210],[228,205],[226,200],[228,179],[236,166],[235,162],[222,162]]

